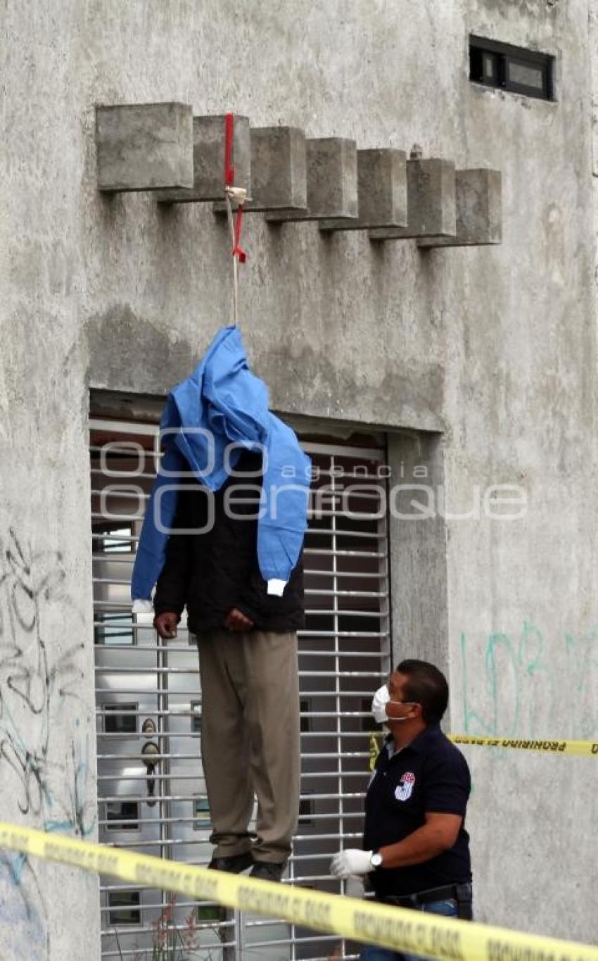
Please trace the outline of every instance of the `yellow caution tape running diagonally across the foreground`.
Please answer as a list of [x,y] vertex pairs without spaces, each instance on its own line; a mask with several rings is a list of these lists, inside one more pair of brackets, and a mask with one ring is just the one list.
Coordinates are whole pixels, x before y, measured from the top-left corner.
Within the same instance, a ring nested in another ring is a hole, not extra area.
[[598,949],[489,924],[208,871],[0,822],[0,848],[436,961],[598,961]]

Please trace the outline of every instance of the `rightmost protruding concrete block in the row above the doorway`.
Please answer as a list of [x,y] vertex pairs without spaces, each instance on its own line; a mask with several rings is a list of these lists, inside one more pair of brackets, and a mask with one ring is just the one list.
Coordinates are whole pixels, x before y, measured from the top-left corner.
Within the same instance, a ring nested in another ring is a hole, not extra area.
[[500,170],[458,170],[457,235],[429,237],[419,247],[467,247],[502,242],[502,176]]

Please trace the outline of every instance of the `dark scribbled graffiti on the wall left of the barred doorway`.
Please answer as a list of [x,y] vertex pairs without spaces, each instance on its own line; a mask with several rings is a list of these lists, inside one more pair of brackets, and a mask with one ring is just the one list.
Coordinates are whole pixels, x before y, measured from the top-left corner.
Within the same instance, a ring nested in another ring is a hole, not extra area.
[[[90,745],[78,721],[73,731],[61,724],[68,702],[88,715],[79,662],[84,643],[57,643],[54,630],[48,644],[51,608],[68,609],[69,621],[77,614],[65,577],[60,552],[35,552],[12,529],[0,537],[0,776],[3,793],[29,823],[85,837],[96,818],[87,798]],[[21,854],[0,857],[0,921],[12,925],[14,949],[28,946],[30,959],[49,950],[37,870]]]

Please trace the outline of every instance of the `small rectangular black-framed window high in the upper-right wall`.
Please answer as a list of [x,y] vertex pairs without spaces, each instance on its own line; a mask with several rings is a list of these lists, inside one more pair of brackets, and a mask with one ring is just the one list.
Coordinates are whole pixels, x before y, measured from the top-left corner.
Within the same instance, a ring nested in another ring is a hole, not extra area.
[[469,37],[469,80],[540,100],[554,100],[554,57],[550,54]]

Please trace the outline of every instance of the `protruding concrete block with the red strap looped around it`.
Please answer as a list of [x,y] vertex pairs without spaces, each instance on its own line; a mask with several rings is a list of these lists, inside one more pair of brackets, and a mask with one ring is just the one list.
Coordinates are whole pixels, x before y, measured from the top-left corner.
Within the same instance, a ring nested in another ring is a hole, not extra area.
[[[221,200],[225,195],[226,117],[193,117],[193,187],[162,190],[160,203],[189,204]],[[249,117],[233,115],[231,163],[234,185],[250,192],[251,143]]]

